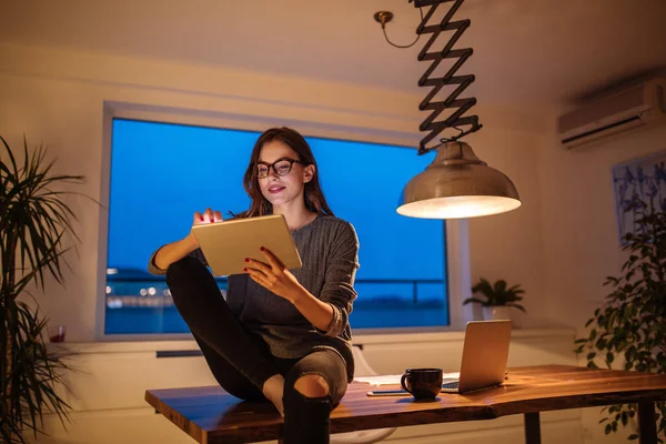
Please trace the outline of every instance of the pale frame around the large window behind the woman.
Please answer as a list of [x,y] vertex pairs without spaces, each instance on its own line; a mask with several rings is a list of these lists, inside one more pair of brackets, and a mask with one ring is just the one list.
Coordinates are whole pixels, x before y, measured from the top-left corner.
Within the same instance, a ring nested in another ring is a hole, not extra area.
[[[184,124],[195,127],[208,127],[215,129],[264,131],[274,125],[292,125],[306,138],[326,138],[347,140],[362,143],[382,143],[394,145],[410,145],[402,138],[384,133],[377,137],[373,129],[347,131],[337,125],[327,125],[316,122],[282,119],[280,122],[273,119],[264,119],[255,115],[241,115],[233,113],[209,113],[202,110],[192,111],[184,109],[164,109],[161,107],[137,105],[131,103],[104,102],[103,129],[102,129],[102,171],[99,201],[100,226],[98,246],[98,270],[95,285],[95,340],[107,342],[120,341],[182,341],[191,340],[190,333],[141,333],[141,334],[107,334],[105,322],[105,287],[107,287],[107,260],[109,241],[109,204],[111,186],[111,147],[113,137],[113,119],[140,120],[149,122],[163,122],[170,124]],[[414,149],[416,155],[416,149]],[[444,228],[444,249],[446,281],[448,284],[448,316],[447,326],[422,326],[422,327],[380,327],[380,329],[354,329],[354,335],[398,335],[411,333],[433,333],[446,331],[462,331],[466,322],[474,319],[474,307],[463,305],[462,302],[471,295],[470,273],[470,241],[467,220],[447,220]]]

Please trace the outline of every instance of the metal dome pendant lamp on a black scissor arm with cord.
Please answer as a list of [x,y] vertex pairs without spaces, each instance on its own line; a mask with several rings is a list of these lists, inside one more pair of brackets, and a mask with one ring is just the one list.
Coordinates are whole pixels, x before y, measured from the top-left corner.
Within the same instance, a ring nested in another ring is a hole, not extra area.
[[[464,115],[474,104],[475,98],[458,98],[474,82],[473,74],[456,74],[473,50],[471,48],[453,49],[462,33],[470,27],[470,20],[455,20],[453,16],[464,0],[414,0],[420,9],[421,23],[416,29],[417,38],[408,46],[401,47],[391,42],[385,26],[393,18],[390,11],[374,14],[382,24],[386,40],[397,48],[408,48],[418,38],[430,34],[427,42],[418,53],[418,61],[431,61],[430,67],[418,80],[420,87],[428,87],[431,91],[418,105],[421,111],[430,111],[430,115],[421,123],[421,131],[428,131],[420,142],[418,154],[436,150],[433,162],[426,170],[414,176],[404,188],[397,213],[422,219],[461,219],[497,214],[521,206],[518,192],[513,182],[501,171],[488,167],[473,152],[472,147],[461,142],[464,135],[478,131],[483,125],[478,117]],[[410,0],[411,2],[411,0]],[[453,3],[441,22],[427,24],[442,3]],[[428,8],[425,14],[423,8]],[[442,32],[453,31],[453,36],[443,49],[430,51]],[[428,52],[430,51],[430,52]],[[453,65],[442,77],[432,75],[444,60],[455,59]],[[455,87],[444,100],[435,101],[435,97],[444,87]],[[444,111],[452,111],[445,120],[435,121]],[[444,130],[453,128],[458,134],[442,138],[435,144],[428,143]]]

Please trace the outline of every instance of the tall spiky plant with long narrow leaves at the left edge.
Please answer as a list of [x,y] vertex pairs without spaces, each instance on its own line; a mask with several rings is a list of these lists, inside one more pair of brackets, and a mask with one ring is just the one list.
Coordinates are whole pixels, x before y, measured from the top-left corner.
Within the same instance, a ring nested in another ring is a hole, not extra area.
[[43,433],[44,413],[68,418],[69,405],[56,390],[68,365],[47,344],[47,319],[37,301],[26,299],[32,297],[31,284],[44,290],[44,275],[64,282],[64,239],[77,239],[75,216],[62,199],[69,192],[58,188],[83,176],[52,173],[47,150],[30,153],[26,139],[23,161],[17,162],[0,140],[0,441],[26,443],[27,433]]

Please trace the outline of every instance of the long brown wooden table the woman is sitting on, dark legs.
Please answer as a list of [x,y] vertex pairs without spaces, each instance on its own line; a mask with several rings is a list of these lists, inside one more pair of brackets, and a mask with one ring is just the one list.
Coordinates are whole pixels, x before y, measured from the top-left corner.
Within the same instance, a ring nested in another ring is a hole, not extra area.
[[[387,389],[391,386],[386,386]],[[541,443],[539,412],[638,403],[640,443],[656,443],[655,401],[666,400],[666,374],[566,365],[508,370],[504,385],[437,400],[367,397],[366,383],[350,385],[331,415],[331,433],[525,415],[525,441]],[[199,443],[275,440],[282,418],[269,403],[242,402],[219,386],[149,390],[145,401]]]

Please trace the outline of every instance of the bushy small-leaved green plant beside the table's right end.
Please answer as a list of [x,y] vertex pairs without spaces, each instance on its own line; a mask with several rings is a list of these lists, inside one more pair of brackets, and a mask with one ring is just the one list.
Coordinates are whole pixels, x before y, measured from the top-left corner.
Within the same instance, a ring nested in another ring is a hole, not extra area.
[[[633,233],[623,236],[626,261],[618,276],[608,276],[610,286],[601,307],[587,321],[586,336],[577,339],[576,353],[585,354],[587,366],[618,367],[638,372],[666,373],[666,213],[650,202],[633,201]],[[659,442],[666,437],[666,403],[656,403]],[[636,405],[605,407],[599,421],[606,434],[618,425],[634,428],[637,440]]]

